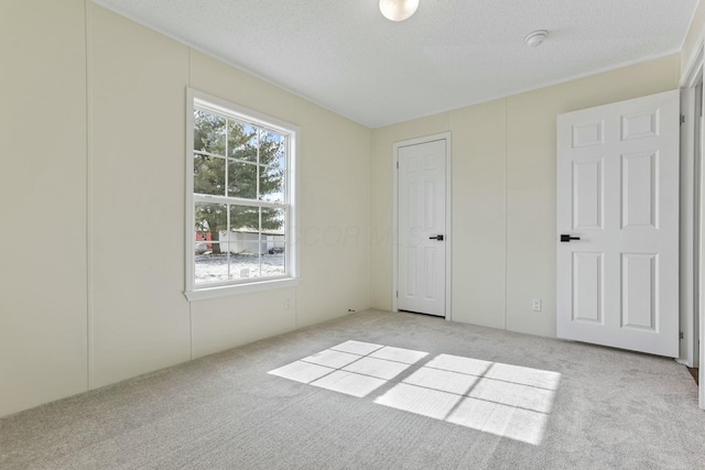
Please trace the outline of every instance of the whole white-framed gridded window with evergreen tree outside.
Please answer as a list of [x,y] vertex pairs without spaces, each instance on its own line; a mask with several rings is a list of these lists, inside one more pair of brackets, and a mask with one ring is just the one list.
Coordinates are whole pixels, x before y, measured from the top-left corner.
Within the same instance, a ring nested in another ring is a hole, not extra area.
[[186,296],[292,284],[296,129],[188,95]]

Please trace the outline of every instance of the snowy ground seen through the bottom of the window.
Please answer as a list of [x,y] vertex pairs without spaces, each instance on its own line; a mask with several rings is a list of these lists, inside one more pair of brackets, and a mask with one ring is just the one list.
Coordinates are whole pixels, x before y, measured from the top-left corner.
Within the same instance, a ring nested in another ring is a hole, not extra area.
[[203,284],[248,277],[276,276],[284,274],[284,253],[264,253],[261,256],[258,256],[257,253],[197,254],[195,280],[197,284]]

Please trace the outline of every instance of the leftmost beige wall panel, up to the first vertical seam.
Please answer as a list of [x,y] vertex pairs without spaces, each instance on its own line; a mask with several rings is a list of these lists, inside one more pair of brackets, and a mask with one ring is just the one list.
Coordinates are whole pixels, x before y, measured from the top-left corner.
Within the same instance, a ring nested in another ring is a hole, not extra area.
[[0,23],[2,416],[87,384],[84,2],[2,2]]

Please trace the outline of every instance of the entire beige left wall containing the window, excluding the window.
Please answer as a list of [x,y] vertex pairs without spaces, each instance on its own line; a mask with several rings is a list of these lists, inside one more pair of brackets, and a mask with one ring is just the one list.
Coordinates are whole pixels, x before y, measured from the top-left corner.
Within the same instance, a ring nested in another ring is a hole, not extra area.
[[[369,307],[369,129],[87,0],[0,18],[0,416]],[[299,125],[297,287],[182,294],[188,86]]]

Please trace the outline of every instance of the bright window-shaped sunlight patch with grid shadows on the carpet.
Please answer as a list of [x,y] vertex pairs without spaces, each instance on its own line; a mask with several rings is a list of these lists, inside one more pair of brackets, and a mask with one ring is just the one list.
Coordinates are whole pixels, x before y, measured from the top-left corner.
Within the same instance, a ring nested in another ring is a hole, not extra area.
[[411,370],[427,356],[350,340],[269,373],[358,398],[388,385],[376,404],[541,444],[560,373],[452,354]]

